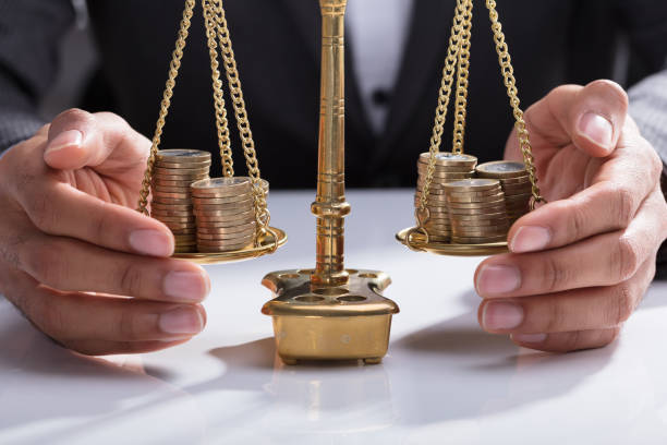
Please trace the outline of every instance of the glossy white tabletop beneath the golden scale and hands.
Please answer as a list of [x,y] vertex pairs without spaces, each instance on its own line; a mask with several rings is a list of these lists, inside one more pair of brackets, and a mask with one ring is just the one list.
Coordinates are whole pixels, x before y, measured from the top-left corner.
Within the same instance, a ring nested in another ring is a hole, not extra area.
[[414,253],[393,240],[412,222],[408,191],[348,195],[348,265],[388,272],[385,294],[401,306],[383,364],[281,364],[259,280],[313,266],[313,197],[271,195],[288,244],[209,267],[208,326],[171,350],[81,357],[0,298],[0,443],[667,443],[667,282],[653,285],[607,348],[518,348],[477,325],[480,258]]

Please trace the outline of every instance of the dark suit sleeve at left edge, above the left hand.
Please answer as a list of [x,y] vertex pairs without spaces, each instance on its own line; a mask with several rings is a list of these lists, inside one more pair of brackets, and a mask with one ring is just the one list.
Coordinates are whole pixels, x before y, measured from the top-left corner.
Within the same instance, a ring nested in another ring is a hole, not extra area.
[[44,124],[37,113],[74,23],[70,0],[0,0],[0,153]]

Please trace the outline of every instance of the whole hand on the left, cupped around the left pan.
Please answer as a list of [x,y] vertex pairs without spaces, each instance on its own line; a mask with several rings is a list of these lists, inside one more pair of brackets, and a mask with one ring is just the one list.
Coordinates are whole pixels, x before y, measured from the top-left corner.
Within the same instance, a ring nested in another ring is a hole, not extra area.
[[69,110],[0,157],[0,293],[86,354],[146,352],[205,325],[206,272],[171,260],[133,208],[150,142],[116,115]]

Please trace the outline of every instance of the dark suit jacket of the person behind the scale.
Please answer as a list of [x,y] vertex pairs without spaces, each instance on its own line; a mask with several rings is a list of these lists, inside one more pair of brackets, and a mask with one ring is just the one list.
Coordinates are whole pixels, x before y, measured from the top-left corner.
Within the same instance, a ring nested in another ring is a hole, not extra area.
[[[183,3],[88,1],[101,67],[88,89],[85,108],[117,111],[151,136]],[[512,118],[488,13],[483,1],[475,4],[466,152],[486,161],[502,156]],[[348,57],[350,187],[414,185],[415,159],[427,149],[430,137],[453,5],[454,0],[415,1],[387,131],[381,135],[373,134],[364,116]],[[226,0],[225,7],[263,176],[274,188],[313,187],[318,2]],[[498,9],[524,107],[559,84],[611,77],[617,44],[623,38],[629,43],[628,84],[659,71],[667,59],[665,0],[506,0]],[[53,79],[57,43],[72,19],[69,0],[0,0],[0,146],[28,137],[40,124],[35,104]],[[353,46],[348,47],[348,56],[351,51]],[[197,9],[162,147],[216,149],[209,70]],[[662,79],[658,85],[667,85],[667,75]],[[646,122],[658,132],[667,127],[667,98],[656,103],[656,94],[638,99],[646,106],[638,107],[642,112],[634,117],[640,127]],[[660,141],[656,136],[652,142],[664,151],[666,159],[667,137]],[[446,137],[442,149],[449,144]],[[237,166],[243,172],[238,147],[235,144]]]

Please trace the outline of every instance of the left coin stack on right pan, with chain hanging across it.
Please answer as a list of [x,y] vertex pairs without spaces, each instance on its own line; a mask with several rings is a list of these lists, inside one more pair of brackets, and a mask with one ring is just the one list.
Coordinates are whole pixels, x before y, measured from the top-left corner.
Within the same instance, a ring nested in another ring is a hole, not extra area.
[[[426,182],[426,173],[428,170],[429,153],[422,153],[417,160],[417,187],[414,195],[414,205],[420,207],[422,199],[422,190]],[[447,211],[447,200],[445,195],[445,184],[451,181],[459,181],[465,178],[472,178],[474,175],[477,158],[470,155],[454,155],[452,153],[437,153],[435,161],[435,172],[426,207],[429,212],[429,218],[425,229],[428,231],[428,238],[434,242],[448,242],[451,237],[451,224]]]

